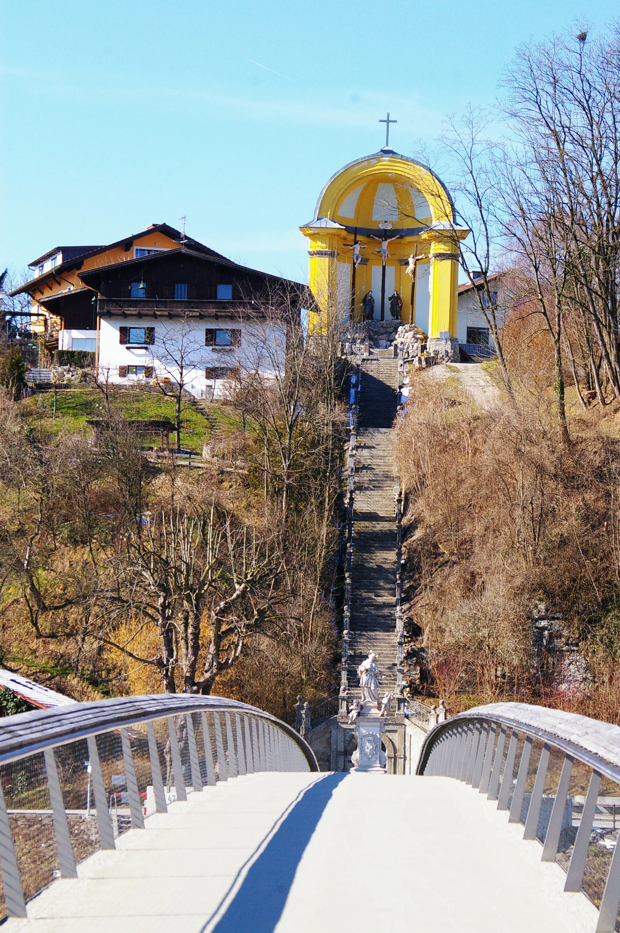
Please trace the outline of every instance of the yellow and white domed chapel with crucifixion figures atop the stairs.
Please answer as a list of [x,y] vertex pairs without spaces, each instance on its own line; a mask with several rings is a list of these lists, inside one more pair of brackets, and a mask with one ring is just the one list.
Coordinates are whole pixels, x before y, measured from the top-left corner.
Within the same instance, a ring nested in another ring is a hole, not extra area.
[[456,223],[441,179],[394,152],[387,134],[379,152],[332,175],[299,229],[310,241],[310,289],[322,313],[396,317],[428,337],[456,337],[459,240],[470,231]]

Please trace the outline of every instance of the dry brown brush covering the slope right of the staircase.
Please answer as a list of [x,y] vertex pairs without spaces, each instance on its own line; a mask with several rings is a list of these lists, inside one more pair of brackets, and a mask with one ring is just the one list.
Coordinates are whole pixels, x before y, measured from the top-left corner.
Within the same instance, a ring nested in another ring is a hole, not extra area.
[[[426,689],[451,711],[518,699],[620,719],[620,442],[612,406],[571,405],[556,426],[542,336],[515,324],[515,403],[476,411],[454,381],[421,375],[398,427],[406,484],[409,631]],[[525,332],[524,332],[525,330]],[[526,338],[529,352],[522,352]],[[580,639],[591,679],[562,688],[537,655],[546,606]],[[618,621],[616,621],[616,616]]]

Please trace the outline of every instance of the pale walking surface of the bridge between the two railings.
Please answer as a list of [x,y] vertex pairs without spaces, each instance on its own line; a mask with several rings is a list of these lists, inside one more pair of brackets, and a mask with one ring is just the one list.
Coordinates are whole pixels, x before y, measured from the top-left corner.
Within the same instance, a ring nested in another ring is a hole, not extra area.
[[6,933],[567,933],[596,927],[538,842],[440,777],[261,773],[146,820]]

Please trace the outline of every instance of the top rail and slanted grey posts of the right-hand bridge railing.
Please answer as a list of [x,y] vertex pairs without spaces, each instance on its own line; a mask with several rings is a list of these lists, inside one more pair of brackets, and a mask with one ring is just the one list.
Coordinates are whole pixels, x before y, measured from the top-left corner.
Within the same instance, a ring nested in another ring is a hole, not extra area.
[[[514,779],[519,738],[522,752]],[[580,761],[592,770],[564,885],[565,891],[580,891],[601,780],[607,777],[620,785],[620,727],[528,703],[489,703],[435,726],[424,740],[416,773],[453,777],[470,784],[486,793],[490,801],[497,801],[498,810],[509,811],[509,822],[519,823],[534,740],[543,747],[527,807],[524,839],[537,838],[551,751],[563,755],[558,789],[542,840],[544,862],[553,862],[558,856],[574,762]],[[597,933],[613,933],[619,907],[620,844],[616,844],[600,899]]]

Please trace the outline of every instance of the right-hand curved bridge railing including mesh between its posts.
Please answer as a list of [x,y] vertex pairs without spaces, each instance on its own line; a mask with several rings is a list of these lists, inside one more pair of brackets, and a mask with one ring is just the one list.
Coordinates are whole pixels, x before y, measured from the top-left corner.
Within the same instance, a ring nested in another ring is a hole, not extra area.
[[567,872],[565,891],[599,907],[597,933],[620,928],[620,727],[531,706],[490,703],[437,725],[418,774],[463,781],[509,811],[542,860]]

